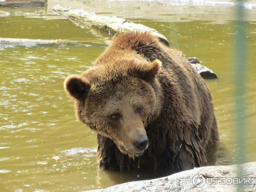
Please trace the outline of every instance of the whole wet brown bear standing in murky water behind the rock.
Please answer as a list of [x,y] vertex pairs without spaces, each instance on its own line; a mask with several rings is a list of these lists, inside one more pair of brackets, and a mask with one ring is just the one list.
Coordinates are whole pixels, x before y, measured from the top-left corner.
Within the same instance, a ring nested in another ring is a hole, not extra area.
[[116,37],[94,67],[64,82],[77,118],[97,133],[99,166],[155,177],[214,163],[212,96],[184,57],[153,35]]

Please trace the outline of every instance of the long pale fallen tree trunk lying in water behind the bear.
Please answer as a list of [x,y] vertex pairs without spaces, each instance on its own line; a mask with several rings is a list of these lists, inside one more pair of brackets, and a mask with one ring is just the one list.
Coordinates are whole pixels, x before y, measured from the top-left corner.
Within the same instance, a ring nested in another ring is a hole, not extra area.
[[[131,21],[118,17],[96,15],[95,13],[85,12],[81,9],[71,9],[69,7],[63,7],[59,5],[54,6],[53,10],[60,15],[69,18],[78,26],[99,29],[102,32],[108,33],[108,35],[113,35],[113,38],[118,33],[128,31],[150,32],[159,38],[160,41],[162,41],[164,44],[169,46],[169,42],[164,35],[161,35],[159,32],[157,32],[157,30],[142,24],[132,23]],[[218,78],[212,70],[199,64],[199,61],[197,59],[195,61],[195,59],[188,58],[188,61],[204,79]]]

